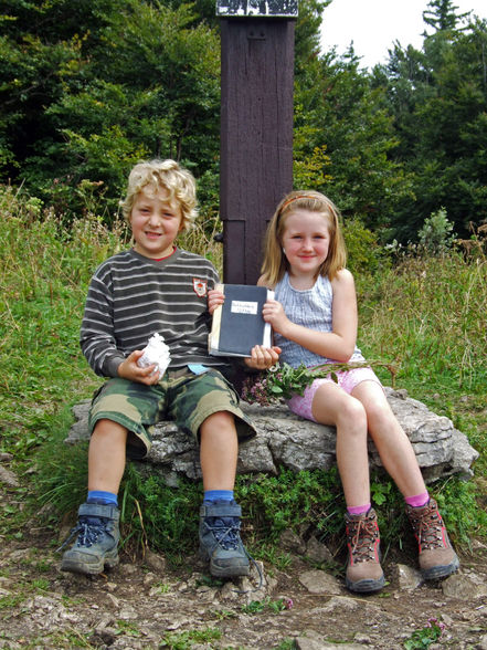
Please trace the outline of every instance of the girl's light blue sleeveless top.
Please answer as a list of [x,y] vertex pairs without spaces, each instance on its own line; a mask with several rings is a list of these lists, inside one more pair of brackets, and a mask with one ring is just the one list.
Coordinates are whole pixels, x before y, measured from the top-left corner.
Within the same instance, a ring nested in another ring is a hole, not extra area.
[[[276,301],[283,305],[289,321],[317,332],[332,332],[331,306],[334,303],[334,290],[328,277],[319,275],[311,289],[300,291],[292,286],[289,275],[286,272],[283,280],[276,284],[274,291]],[[278,345],[283,350],[280,360],[294,368],[297,368],[300,364],[309,368],[335,360],[321,357],[301,345],[284,338],[277,332],[274,333],[274,340],[275,345]],[[357,346],[350,360],[364,360]]]

